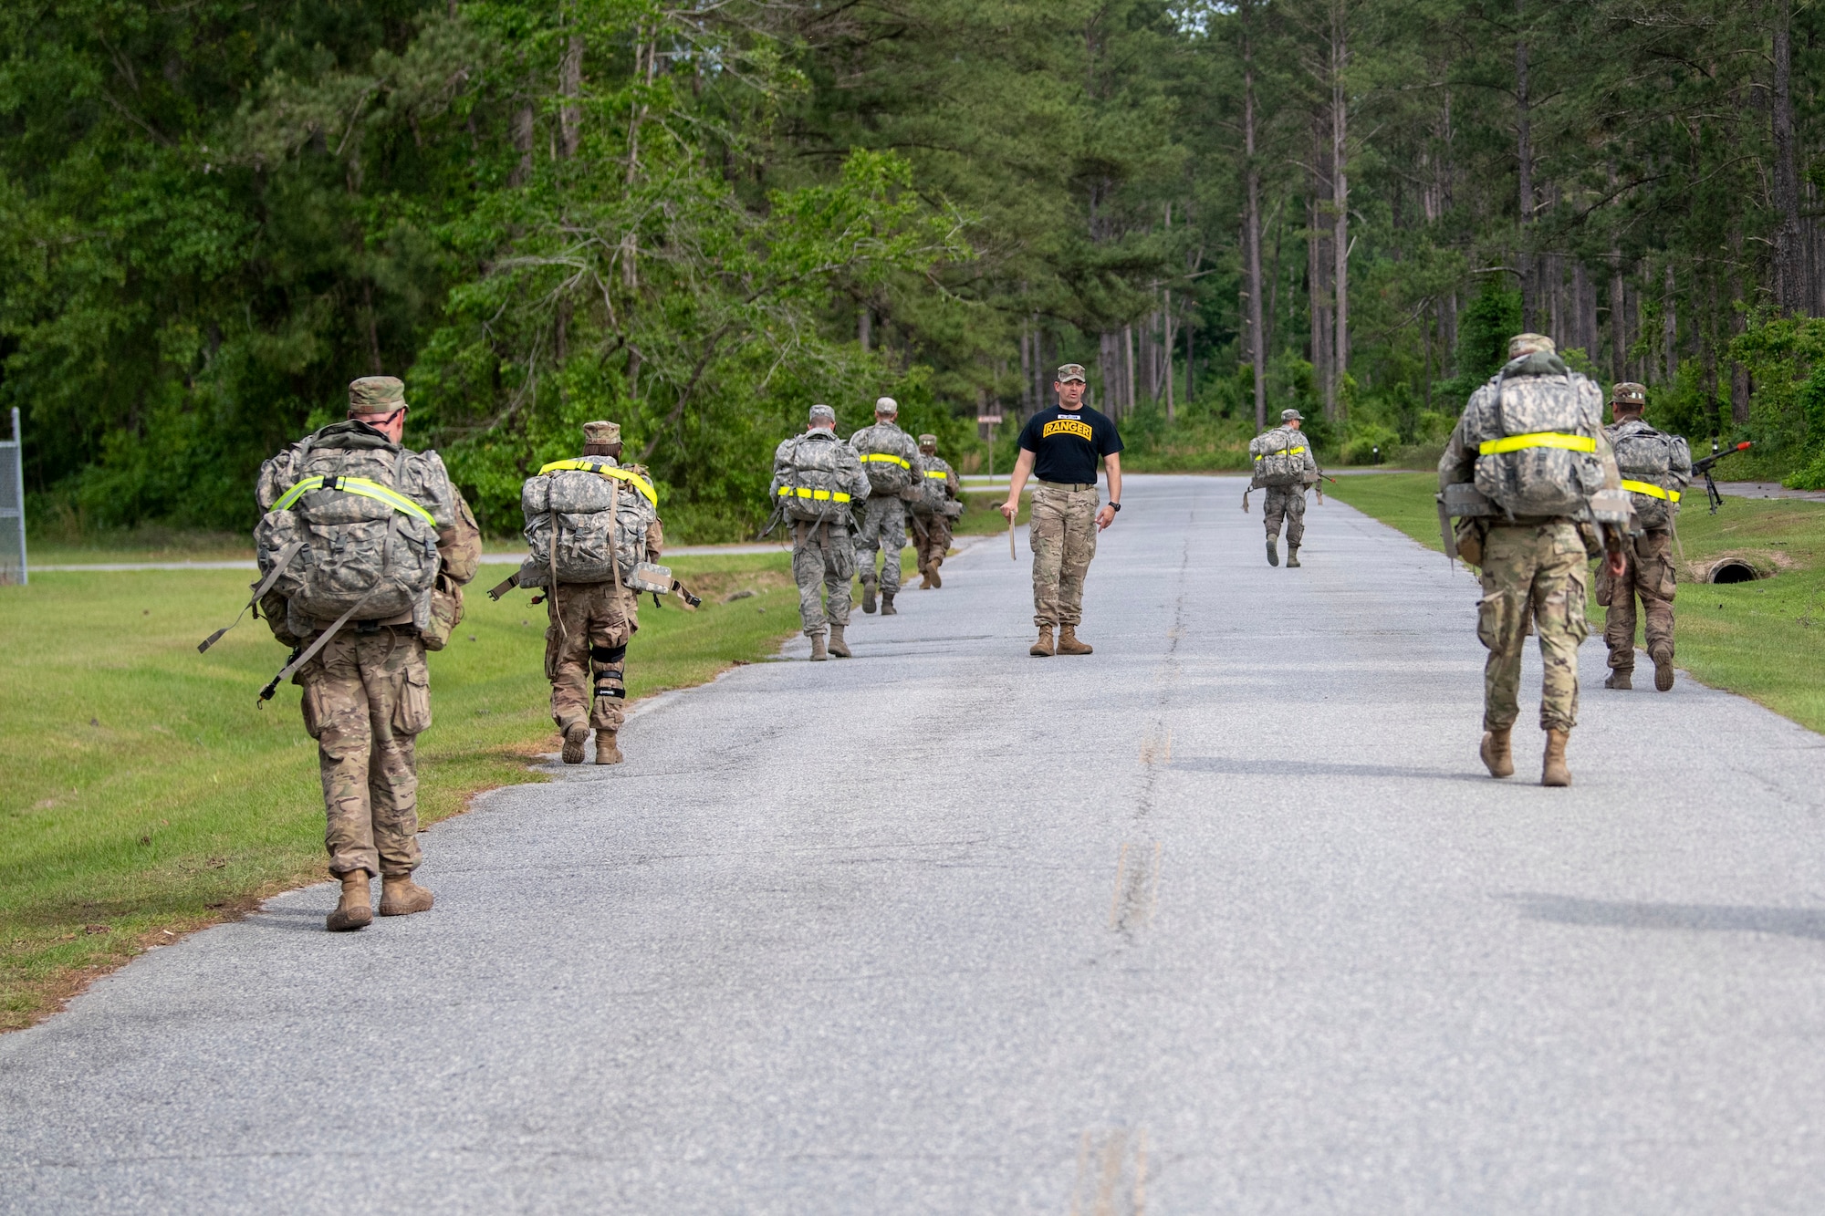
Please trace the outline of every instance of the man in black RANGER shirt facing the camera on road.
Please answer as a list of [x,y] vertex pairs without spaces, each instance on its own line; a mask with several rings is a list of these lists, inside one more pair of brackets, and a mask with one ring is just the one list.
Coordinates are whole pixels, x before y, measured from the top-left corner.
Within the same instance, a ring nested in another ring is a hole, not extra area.
[[[1051,389],[1058,404],[1038,411],[1020,427],[1020,456],[1007,478],[1002,517],[1020,511],[1020,489],[1035,477],[1033,520],[1033,623],[1038,641],[1027,650],[1035,659],[1053,654],[1090,654],[1077,639],[1084,621],[1084,573],[1097,555],[1097,533],[1122,509],[1122,436],[1108,416],[1084,405],[1084,367],[1066,363]],[[1110,471],[1110,500],[1097,508],[1097,462]],[[1053,630],[1058,634],[1053,643]]]

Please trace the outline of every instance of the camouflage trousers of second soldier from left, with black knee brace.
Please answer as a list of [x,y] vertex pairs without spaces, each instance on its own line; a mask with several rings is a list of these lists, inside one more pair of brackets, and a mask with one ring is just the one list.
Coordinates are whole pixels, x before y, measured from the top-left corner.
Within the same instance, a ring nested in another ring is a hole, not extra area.
[[628,639],[641,628],[639,603],[613,582],[568,582],[546,599],[546,679],[558,730],[584,718],[595,730],[620,730],[628,714]]

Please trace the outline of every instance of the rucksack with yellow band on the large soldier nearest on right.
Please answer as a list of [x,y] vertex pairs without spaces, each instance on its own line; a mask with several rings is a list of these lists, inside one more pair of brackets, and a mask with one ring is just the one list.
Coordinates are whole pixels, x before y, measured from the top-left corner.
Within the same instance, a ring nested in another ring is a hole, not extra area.
[[1524,354],[1471,393],[1476,489],[1509,515],[1582,515],[1604,487],[1602,391],[1557,354]]

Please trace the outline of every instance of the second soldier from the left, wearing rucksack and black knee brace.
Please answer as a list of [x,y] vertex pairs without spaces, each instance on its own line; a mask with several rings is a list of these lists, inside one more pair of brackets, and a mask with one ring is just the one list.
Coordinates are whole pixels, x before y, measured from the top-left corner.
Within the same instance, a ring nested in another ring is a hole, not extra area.
[[520,586],[546,588],[546,679],[564,763],[580,765],[589,730],[595,763],[619,765],[628,716],[628,643],[641,630],[635,571],[659,562],[659,495],[620,466],[620,424],[586,422],[582,456],[555,460],[520,487],[526,542]]

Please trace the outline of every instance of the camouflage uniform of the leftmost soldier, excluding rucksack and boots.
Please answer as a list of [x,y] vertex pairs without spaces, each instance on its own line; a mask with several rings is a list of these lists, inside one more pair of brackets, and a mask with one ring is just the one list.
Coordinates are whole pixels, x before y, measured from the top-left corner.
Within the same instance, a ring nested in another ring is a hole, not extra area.
[[[350,385],[352,405],[372,405],[370,396],[403,404],[398,380],[369,378]],[[356,420],[327,425],[312,435],[308,444],[319,453],[325,449],[402,453],[400,446]],[[416,453],[407,455],[416,456]],[[274,464],[270,462],[268,469]],[[403,469],[405,475],[392,489],[431,513],[442,568],[438,586],[456,597],[460,613],[460,592],[454,588],[474,577],[482,559],[482,533],[434,451],[403,462]],[[290,487],[279,484],[281,480],[263,471],[261,508],[272,509]],[[381,571],[376,568],[372,577],[356,582],[372,582],[380,577]],[[283,613],[274,613],[268,606],[268,617],[281,641],[303,646],[334,624],[301,617],[296,604]],[[292,683],[303,688],[305,730],[318,741],[318,770],[323,778],[327,814],[325,845],[332,875],[367,871],[398,876],[411,875],[420,864],[414,743],[431,725],[431,679],[422,635],[429,626],[429,604],[423,612],[350,621],[292,676]]]

